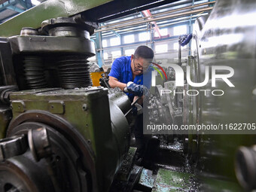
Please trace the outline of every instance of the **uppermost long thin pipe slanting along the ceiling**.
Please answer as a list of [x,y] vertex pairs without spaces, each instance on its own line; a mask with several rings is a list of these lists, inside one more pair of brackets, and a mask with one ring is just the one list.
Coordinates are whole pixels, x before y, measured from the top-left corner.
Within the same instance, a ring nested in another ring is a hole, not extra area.
[[[197,8],[197,7],[200,7],[200,6],[209,5],[209,4],[213,4],[213,3],[215,3],[215,2],[206,2],[206,3],[202,3],[202,4],[198,4],[198,5],[192,5],[192,6],[185,7],[185,8],[178,8],[178,9],[175,9],[175,10],[166,11],[166,12],[159,13],[159,14],[154,14],[154,15],[148,16],[148,17],[157,17],[157,16],[163,15],[163,14],[170,14],[170,13],[173,13],[173,12],[176,12],[176,11],[182,11],[182,10],[186,10],[186,9]],[[121,22],[118,22],[118,23],[112,23],[112,24],[109,24],[109,25],[101,26],[101,27],[99,27],[99,29],[107,28],[109,26],[117,26],[117,25],[120,25],[122,23],[134,22],[136,20],[142,20],[142,19],[145,20],[145,19],[148,19],[148,17],[142,17],[142,18],[136,18],[136,19],[133,19],[133,20],[125,20],[125,21],[121,21]]]

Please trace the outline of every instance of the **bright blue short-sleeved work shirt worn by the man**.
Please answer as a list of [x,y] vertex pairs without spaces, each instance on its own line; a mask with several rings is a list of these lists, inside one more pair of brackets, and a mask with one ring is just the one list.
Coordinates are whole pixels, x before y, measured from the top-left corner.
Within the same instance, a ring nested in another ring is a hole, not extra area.
[[[133,71],[131,68],[131,56],[121,56],[114,60],[111,71],[108,76],[117,78],[123,84],[127,84],[129,81],[133,81],[135,84],[143,84],[148,89],[151,86],[151,68],[148,68],[147,72],[144,72],[142,75],[136,75],[133,80]],[[132,93],[126,93],[129,96],[130,100],[133,102],[134,95]]]

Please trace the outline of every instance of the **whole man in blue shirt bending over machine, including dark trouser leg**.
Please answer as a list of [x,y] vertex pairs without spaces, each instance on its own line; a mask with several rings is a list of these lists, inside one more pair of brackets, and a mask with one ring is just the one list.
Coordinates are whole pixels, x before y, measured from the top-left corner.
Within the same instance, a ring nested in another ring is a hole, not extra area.
[[[111,72],[108,74],[110,87],[119,87],[131,102],[141,96],[138,103],[142,105],[143,98],[148,94],[151,85],[151,68],[148,66],[154,58],[154,51],[145,45],[137,47],[132,56],[121,56],[114,60]],[[144,96],[143,96],[144,94]],[[136,118],[134,133],[138,159],[141,160],[145,152],[145,139],[143,136],[143,115]]]

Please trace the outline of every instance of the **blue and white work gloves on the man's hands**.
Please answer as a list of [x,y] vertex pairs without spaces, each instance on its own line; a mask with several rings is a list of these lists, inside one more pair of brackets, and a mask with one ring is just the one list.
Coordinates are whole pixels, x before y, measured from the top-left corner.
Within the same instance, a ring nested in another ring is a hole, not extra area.
[[142,84],[135,84],[132,81],[126,84],[124,92],[133,93],[135,96],[143,96],[143,93],[145,96],[149,96],[149,91],[147,87],[143,86]]

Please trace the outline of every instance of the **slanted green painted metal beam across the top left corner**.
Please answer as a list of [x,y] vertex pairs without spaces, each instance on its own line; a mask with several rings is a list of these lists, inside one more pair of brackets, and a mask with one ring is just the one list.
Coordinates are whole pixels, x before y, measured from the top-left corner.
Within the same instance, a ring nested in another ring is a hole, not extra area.
[[44,20],[56,17],[70,17],[112,1],[113,0],[48,0],[2,23],[0,25],[0,37],[19,35],[23,27],[38,29],[41,27],[41,22]]

